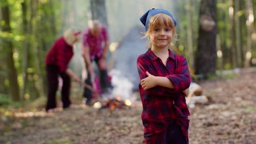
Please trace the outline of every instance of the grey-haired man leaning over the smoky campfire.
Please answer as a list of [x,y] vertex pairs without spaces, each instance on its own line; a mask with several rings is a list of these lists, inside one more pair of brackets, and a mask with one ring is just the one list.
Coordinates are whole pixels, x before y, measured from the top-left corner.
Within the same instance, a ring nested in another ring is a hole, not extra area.
[[[92,86],[91,74],[93,73],[92,62],[97,63],[100,70],[100,82],[101,92],[107,92],[110,88],[110,82],[108,81],[107,68],[106,68],[106,56],[108,52],[108,32],[107,27],[102,25],[99,20],[93,20],[88,22],[89,27],[85,29],[83,34],[83,46],[82,55],[88,70],[87,79],[85,83]],[[91,104],[92,92],[88,88],[84,88],[84,97],[86,98],[86,104]]]

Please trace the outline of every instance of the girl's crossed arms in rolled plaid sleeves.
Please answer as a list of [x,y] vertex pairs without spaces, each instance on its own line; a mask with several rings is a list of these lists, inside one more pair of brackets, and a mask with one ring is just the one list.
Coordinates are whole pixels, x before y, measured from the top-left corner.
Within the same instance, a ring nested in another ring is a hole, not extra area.
[[139,58],[137,61],[137,68],[139,76],[141,77],[141,87],[144,91],[166,91],[162,95],[165,95],[166,93],[183,92],[185,95],[188,95],[188,88],[191,80],[185,58],[181,59],[175,73],[172,75],[154,76],[150,74],[149,71],[152,71],[152,68],[150,68],[149,65],[144,64]]

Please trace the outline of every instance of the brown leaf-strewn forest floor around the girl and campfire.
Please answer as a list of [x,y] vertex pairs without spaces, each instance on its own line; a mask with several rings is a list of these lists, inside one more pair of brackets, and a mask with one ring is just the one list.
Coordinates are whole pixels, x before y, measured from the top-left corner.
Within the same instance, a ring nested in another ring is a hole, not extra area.
[[[199,82],[210,101],[190,110],[190,143],[256,141],[255,77],[254,71]],[[139,100],[127,109],[81,106],[53,115],[2,107],[0,143],[144,143],[141,112]]]

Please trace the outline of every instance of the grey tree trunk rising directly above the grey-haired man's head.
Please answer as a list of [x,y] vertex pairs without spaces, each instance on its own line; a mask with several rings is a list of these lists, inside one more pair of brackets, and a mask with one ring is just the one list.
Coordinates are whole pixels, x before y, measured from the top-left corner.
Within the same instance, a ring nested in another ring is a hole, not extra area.
[[105,0],[90,0],[90,4],[92,20],[98,19],[108,26]]

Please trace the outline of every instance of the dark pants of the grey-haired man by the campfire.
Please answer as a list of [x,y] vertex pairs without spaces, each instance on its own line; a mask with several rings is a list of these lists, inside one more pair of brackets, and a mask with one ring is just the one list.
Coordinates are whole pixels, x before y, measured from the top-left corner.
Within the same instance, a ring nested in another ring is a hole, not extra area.
[[[100,60],[100,58],[95,58],[95,59],[91,59],[91,62],[92,61],[95,61],[98,65],[98,61]],[[99,68],[99,65],[98,65],[98,68]],[[86,66],[86,69],[87,69],[87,66]],[[101,93],[104,93],[107,91],[107,88],[110,88],[111,87],[111,84],[110,82],[108,81],[108,73],[107,73],[107,69],[104,69],[104,70],[100,70],[100,83],[101,83]],[[90,85],[92,86],[92,82],[91,82],[91,74],[90,73],[87,73],[87,79],[85,80],[85,83],[87,85]],[[84,98],[86,98],[86,104],[89,104],[91,102],[91,99],[92,99],[92,92],[90,89],[88,88],[84,88]]]

